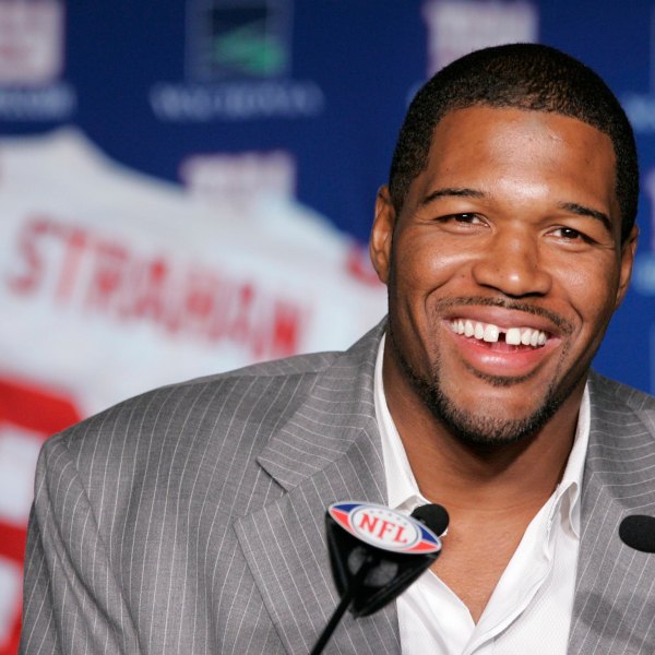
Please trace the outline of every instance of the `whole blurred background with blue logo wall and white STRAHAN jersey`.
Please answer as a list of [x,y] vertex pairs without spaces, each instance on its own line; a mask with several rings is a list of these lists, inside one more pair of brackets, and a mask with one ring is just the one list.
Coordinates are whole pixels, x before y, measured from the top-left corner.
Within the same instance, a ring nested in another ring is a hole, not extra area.
[[407,103],[509,41],[590,63],[635,128],[641,245],[596,367],[653,391],[655,1],[0,0],[0,655],[43,440],[377,322],[364,243]]

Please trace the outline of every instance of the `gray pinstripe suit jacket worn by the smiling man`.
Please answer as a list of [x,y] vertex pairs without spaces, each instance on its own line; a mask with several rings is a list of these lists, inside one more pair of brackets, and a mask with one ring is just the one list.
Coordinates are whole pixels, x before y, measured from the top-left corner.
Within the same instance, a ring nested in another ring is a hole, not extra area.
[[[50,439],[21,652],[308,653],[337,602],[325,507],[385,499],[381,330],[345,354],[163,388]],[[655,559],[617,536],[626,513],[655,514],[655,400],[597,376],[591,392],[569,653],[655,653]],[[394,607],[347,616],[326,652],[400,653]]]

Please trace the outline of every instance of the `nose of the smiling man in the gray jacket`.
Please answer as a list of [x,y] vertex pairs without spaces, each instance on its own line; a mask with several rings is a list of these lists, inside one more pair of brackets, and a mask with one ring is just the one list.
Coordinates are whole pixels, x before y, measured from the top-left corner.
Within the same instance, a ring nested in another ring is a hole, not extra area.
[[498,231],[473,266],[475,281],[505,296],[544,296],[552,278],[536,235]]

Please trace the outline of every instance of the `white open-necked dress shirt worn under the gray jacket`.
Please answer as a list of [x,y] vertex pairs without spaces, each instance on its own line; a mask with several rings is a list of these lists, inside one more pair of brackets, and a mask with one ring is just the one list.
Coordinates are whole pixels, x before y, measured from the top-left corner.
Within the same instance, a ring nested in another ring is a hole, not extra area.
[[[418,489],[386,406],[382,382],[383,350],[384,337],[376,362],[374,393],[388,502],[393,509],[410,513],[429,501]],[[588,433],[590,398],[585,389],[564,475],[527,526],[478,623],[473,621],[468,608],[448,585],[428,570],[396,602],[403,655],[565,654],[580,545],[580,489]],[[448,535],[443,548],[448,548]]]

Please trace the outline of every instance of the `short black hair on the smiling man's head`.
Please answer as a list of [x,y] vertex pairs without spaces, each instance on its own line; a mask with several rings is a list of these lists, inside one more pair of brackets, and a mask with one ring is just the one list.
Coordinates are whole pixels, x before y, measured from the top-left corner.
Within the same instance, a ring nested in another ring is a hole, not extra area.
[[409,184],[425,169],[437,123],[454,109],[514,107],[576,118],[611,140],[621,239],[632,230],[639,200],[639,164],[632,128],[607,84],[584,63],[540,44],[476,50],[453,61],[416,94],[393,153],[389,190],[400,212]]

